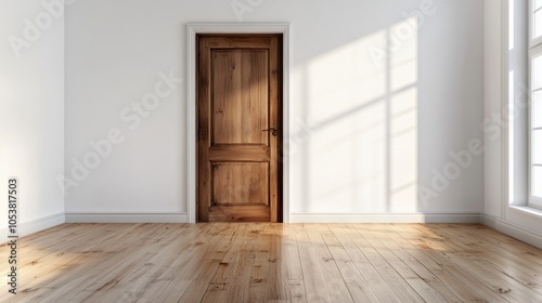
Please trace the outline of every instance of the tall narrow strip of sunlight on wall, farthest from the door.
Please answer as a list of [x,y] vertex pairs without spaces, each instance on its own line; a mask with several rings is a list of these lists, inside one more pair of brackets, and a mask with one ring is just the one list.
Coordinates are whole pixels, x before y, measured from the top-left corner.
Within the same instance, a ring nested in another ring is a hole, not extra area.
[[417,30],[410,18],[390,28],[401,41],[390,52],[389,210],[413,211],[417,205]]

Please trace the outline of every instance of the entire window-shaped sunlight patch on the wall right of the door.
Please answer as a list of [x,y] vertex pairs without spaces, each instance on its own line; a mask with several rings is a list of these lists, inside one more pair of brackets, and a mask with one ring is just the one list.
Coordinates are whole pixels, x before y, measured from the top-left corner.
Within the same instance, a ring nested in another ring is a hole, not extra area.
[[297,66],[294,211],[417,207],[417,26],[410,18]]

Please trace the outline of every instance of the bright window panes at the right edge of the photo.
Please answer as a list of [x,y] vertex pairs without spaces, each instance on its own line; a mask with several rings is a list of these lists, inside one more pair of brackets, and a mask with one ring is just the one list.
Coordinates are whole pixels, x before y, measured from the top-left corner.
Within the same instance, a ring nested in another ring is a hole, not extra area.
[[542,208],[542,0],[530,0],[529,206]]

